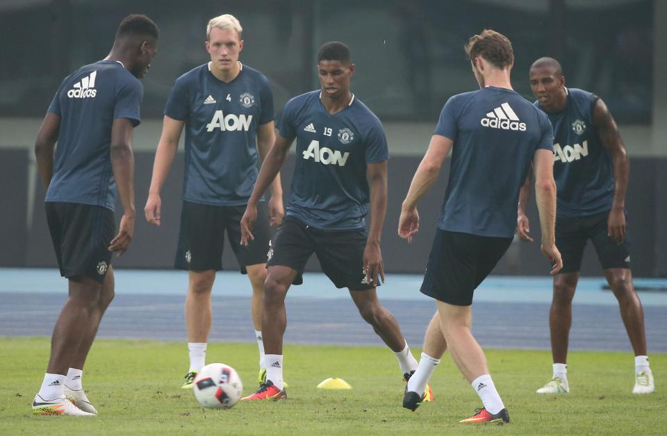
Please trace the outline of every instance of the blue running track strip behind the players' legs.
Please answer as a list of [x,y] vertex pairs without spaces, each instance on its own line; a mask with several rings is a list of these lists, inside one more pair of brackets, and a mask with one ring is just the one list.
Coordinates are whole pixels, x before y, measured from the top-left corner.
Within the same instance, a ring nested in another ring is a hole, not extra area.
[[[116,296],[97,337],[185,342],[185,271],[115,271]],[[550,349],[551,279],[495,276],[475,292],[472,333],[484,347]],[[380,301],[393,312],[408,342],[420,346],[435,311],[420,294],[421,276],[389,275]],[[632,351],[618,304],[602,278],[582,278],[573,305],[570,349]],[[664,279],[637,279],[638,287],[667,287]],[[221,271],[213,287],[211,342],[254,342],[250,285],[238,272]],[[650,353],[667,352],[667,292],[639,292]],[[0,336],[50,336],[67,297],[67,280],[56,269],[0,268]],[[287,300],[290,344],[381,345],[359,317],[347,290],[323,274],[304,274]]]

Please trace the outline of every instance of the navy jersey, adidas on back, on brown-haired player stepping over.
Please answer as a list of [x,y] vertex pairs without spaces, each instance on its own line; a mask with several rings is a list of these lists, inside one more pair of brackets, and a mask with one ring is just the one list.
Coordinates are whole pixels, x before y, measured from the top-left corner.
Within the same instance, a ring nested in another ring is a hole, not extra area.
[[519,190],[535,151],[553,150],[546,115],[513,90],[488,86],[451,97],[434,134],[454,142],[438,227],[512,237]]

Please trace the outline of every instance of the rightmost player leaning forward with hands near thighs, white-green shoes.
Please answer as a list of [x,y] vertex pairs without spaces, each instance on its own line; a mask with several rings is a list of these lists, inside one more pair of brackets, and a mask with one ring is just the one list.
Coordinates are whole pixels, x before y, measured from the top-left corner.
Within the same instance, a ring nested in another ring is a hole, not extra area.
[[[553,377],[540,394],[570,392],[567,378],[568,337],[572,299],[577,289],[582,255],[591,240],[604,277],[618,300],[620,315],[634,349],[633,394],[654,392],[646,355],[644,314],[632,285],[630,251],[625,224],[625,192],[629,160],[614,117],[604,101],[591,92],[568,88],[559,62],[540,58],[530,68],[530,87],[536,108],[554,126],[554,177],[558,187],[556,245],[563,253],[563,269],[554,277],[549,324]],[[526,181],[518,206],[518,235],[527,241],[529,222],[525,205]]]

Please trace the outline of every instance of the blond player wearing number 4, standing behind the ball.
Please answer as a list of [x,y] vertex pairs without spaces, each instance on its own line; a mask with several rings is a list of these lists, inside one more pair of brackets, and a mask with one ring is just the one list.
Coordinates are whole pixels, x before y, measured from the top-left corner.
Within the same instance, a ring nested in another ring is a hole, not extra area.
[[[175,267],[189,272],[186,326],[190,369],[184,389],[192,388],[206,361],[211,331],[211,288],[222,269],[224,233],[236,254],[241,274],[252,286],[252,320],[261,359],[263,284],[271,224],[283,216],[280,176],[272,183],[267,208],[262,203],[257,238],[241,246],[239,221],[258,174],[258,158],[272,146],[273,94],[267,78],[239,62],[242,28],[233,15],[208,22],[206,51],[211,60],[179,77],[165,107],[153,178],[145,207],[146,219],[160,225],[160,190],[169,173],[183,126],[186,127],[186,167],[183,181],[181,229]],[[260,367],[260,379],[265,375]]]

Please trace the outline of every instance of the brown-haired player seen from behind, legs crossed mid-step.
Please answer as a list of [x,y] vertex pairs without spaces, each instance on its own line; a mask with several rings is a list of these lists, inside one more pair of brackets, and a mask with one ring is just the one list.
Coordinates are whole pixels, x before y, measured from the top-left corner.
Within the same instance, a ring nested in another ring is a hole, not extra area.
[[470,333],[472,294],[507,251],[516,230],[514,209],[532,165],[536,175],[542,253],[561,268],[554,244],[556,187],[552,128],[547,117],[512,90],[511,42],[485,30],[466,44],[480,90],[451,97],[440,113],[429,149],[403,201],[400,237],[411,242],[419,230],[418,201],[438,178],[452,150],[443,210],[421,292],[436,299],[438,311],[425,335],[424,353],[410,378],[403,407],[415,410],[421,392],[449,348],[484,407],[463,423],[509,422],[486,358]]

